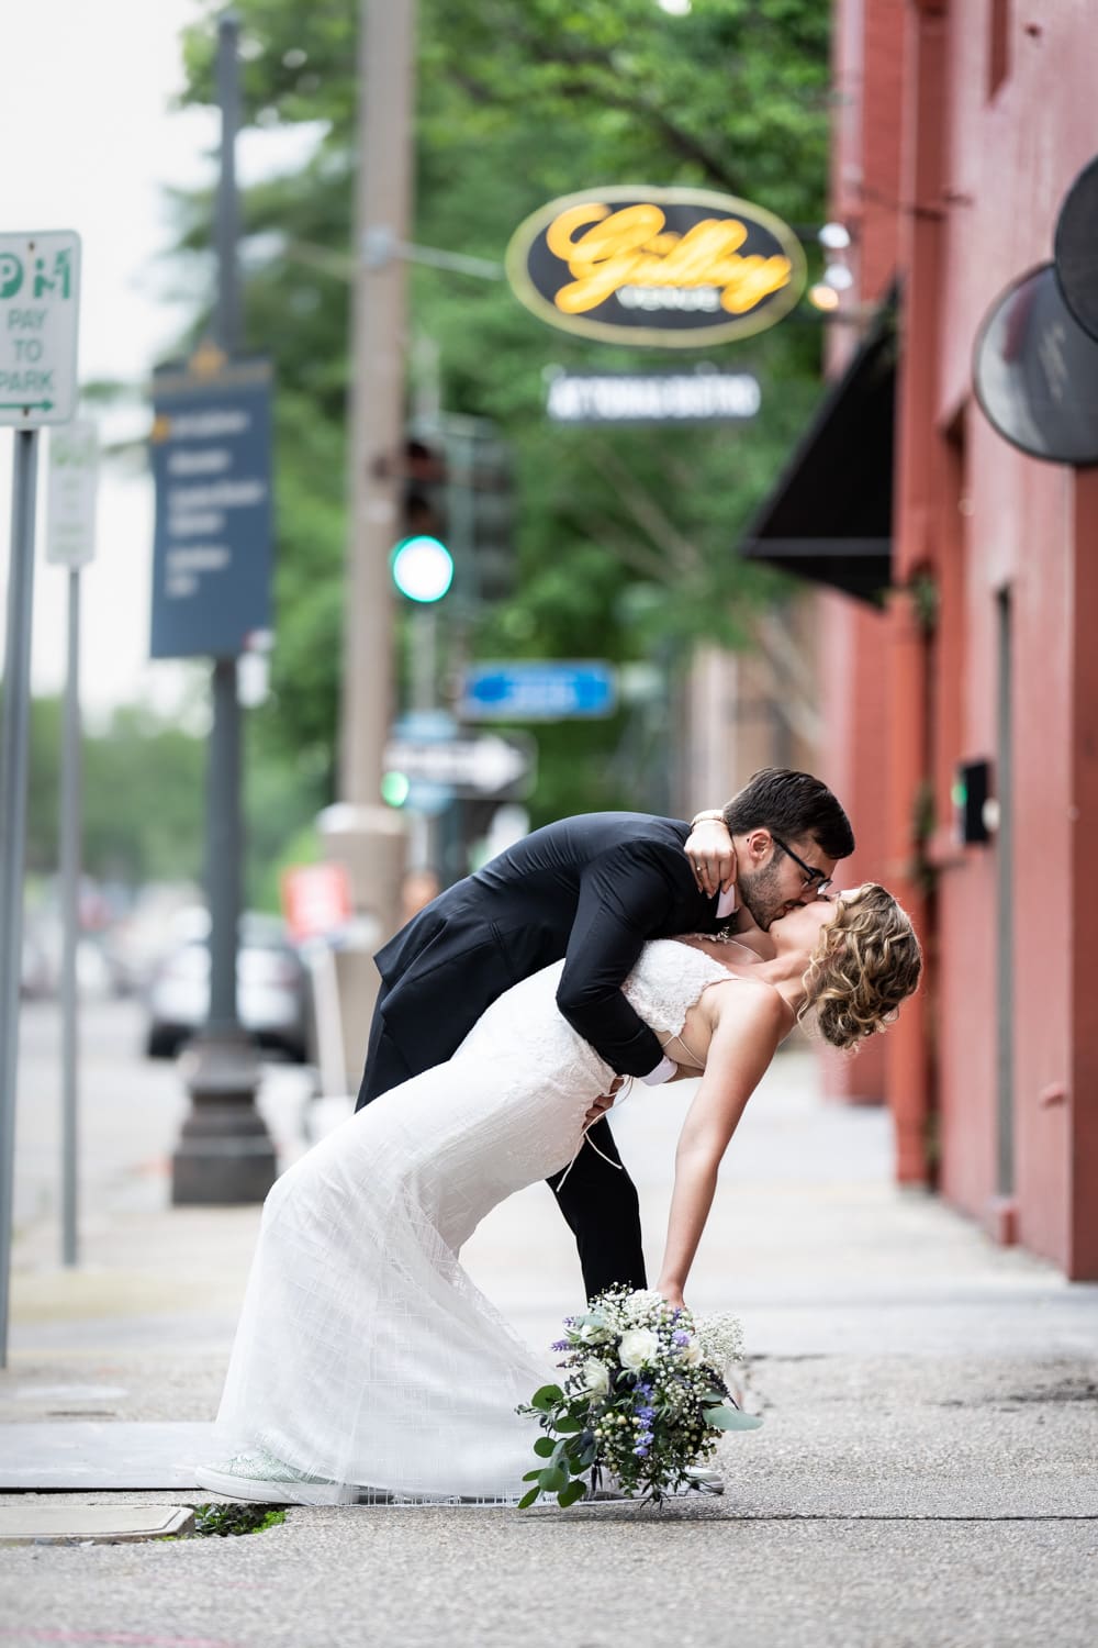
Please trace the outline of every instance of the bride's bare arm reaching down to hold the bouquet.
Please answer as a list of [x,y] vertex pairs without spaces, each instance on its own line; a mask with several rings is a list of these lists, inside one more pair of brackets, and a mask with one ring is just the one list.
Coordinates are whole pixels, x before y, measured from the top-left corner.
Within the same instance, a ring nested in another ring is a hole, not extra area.
[[657,1290],[682,1305],[683,1287],[710,1215],[716,1175],[744,1106],[789,1028],[789,1009],[767,984],[741,981],[711,990],[716,1023],[705,1074],[675,1152],[675,1190]]

